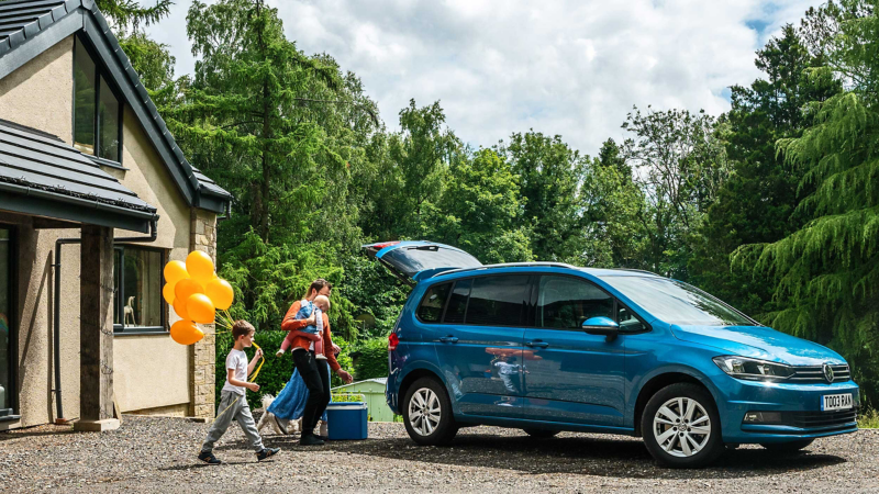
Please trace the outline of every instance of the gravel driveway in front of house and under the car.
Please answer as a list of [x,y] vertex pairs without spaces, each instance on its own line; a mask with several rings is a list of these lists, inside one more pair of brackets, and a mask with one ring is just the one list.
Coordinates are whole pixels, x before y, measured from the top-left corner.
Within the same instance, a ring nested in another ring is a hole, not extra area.
[[207,424],[125,416],[121,429],[78,434],[42,426],[0,433],[0,491],[9,492],[879,492],[879,430],[819,439],[803,454],[759,447],[726,453],[696,471],[657,467],[639,439],[561,434],[534,440],[516,429],[463,429],[452,447],[415,447],[402,424],[370,424],[370,439],[300,447],[257,463],[236,425],[196,460]]

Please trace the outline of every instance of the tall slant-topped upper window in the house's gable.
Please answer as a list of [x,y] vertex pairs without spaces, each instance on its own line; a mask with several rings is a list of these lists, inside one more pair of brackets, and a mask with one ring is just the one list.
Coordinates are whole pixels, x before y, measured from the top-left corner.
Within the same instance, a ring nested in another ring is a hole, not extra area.
[[122,105],[78,38],[74,47],[74,147],[121,161]]

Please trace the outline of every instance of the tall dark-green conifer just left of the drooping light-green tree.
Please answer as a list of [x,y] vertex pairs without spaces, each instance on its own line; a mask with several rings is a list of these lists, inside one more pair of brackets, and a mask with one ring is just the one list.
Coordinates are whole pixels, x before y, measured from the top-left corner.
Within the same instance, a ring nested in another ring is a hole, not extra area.
[[755,65],[766,78],[733,86],[732,109],[722,119],[733,172],[708,211],[689,268],[694,283],[755,316],[772,310],[771,287],[748,270],[733,270],[730,255],[743,244],[781,239],[803,224],[793,215],[803,169],[778,156],[775,144],[800,136],[813,116],[811,102],[839,91],[837,80],[813,70],[822,64],[793,26],[785,26],[757,52]]

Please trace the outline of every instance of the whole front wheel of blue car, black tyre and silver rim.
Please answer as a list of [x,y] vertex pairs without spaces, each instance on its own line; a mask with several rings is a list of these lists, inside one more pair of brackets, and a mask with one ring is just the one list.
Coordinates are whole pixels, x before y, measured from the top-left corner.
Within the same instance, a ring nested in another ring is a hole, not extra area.
[[726,449],[714,398],[696,384],[656,392],[644,407],[641,430],[647,450],[666,467],[704,467]]

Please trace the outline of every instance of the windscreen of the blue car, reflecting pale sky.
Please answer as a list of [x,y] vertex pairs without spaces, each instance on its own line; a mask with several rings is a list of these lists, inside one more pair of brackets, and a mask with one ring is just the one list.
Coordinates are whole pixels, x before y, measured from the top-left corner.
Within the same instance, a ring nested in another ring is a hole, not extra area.
[[650,315],[682,326],[755,326],[744,314],[680,281],[648,277],[601,277]]

